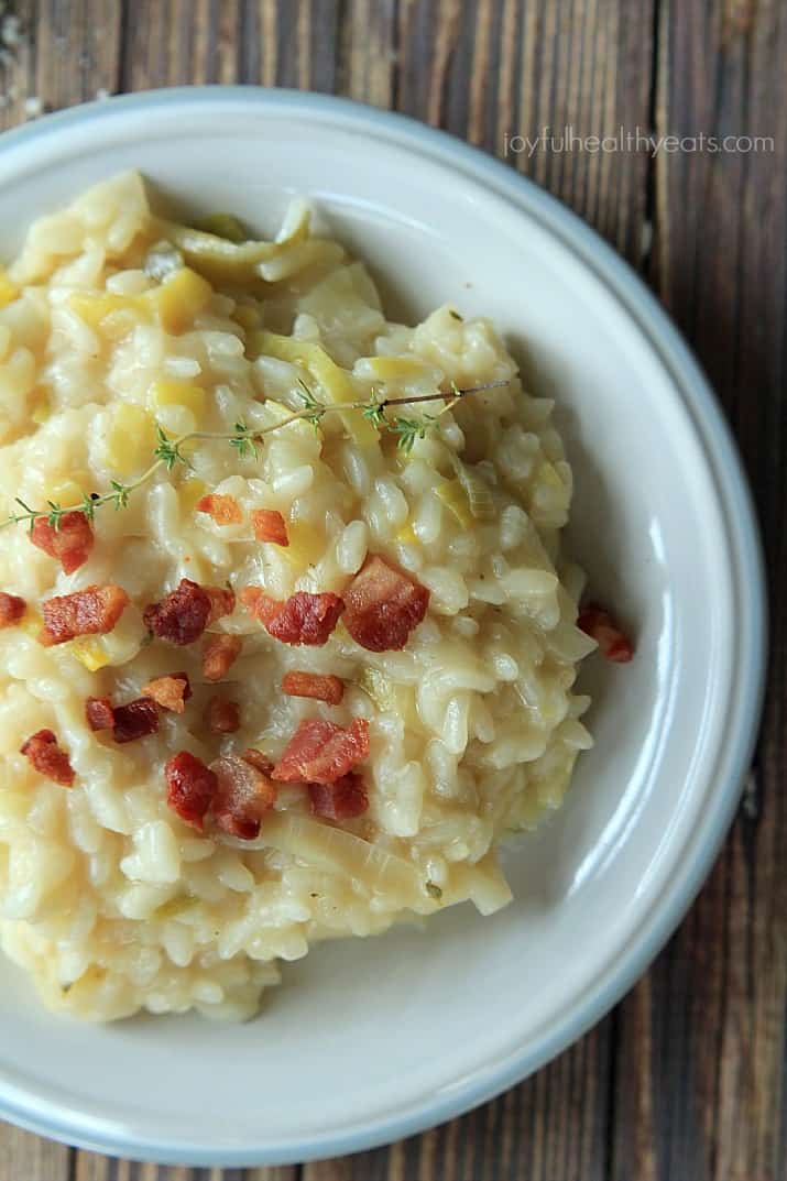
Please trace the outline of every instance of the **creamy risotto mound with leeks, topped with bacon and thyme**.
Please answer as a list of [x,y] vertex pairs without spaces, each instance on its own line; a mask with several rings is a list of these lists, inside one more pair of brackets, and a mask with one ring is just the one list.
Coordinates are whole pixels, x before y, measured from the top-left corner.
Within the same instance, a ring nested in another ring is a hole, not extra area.
[[248,240],[136,174],[0,304],[0,931],[44,1001],[245,1018],[314,940],[505,906],[596,645],[492,324],[390,322],[303,203]]

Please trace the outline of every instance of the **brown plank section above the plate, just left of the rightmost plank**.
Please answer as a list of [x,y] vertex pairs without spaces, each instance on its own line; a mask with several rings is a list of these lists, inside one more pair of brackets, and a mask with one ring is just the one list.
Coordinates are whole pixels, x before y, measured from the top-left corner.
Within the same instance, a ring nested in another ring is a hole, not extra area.
[[653,0],[405,0],[398,25],[399,110],[507,158],[640,262],[646,152],[578,141],[648,126]]

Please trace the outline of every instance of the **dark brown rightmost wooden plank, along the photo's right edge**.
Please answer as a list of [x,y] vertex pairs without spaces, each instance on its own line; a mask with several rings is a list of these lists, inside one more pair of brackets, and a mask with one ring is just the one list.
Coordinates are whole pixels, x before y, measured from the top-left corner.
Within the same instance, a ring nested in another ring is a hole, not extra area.
[[[772,152],[657,159],[653,282],[726,406],[787,595],[787,13],[664,0],[657,131],[773,137]],[[787,625],[772,621],[755,776],[688,920],[625,1001],[613,1177],[787,1175]]]

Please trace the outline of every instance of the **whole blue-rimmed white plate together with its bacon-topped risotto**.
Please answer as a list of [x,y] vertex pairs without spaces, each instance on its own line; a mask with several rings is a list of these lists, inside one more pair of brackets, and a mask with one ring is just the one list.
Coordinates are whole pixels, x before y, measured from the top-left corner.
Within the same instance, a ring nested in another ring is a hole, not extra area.
[[464,1110],[731,817],[713,396],[590,230],[397,116],[169,91],[0,148],[0,1115],[246,1164]]

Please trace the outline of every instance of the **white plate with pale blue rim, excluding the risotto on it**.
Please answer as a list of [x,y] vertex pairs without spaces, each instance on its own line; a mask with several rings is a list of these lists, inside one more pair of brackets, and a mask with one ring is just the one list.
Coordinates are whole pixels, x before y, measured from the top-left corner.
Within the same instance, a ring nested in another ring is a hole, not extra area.
[[282,1163],[445,1120],[596,1022],[668,938],[730,821],[762,680],[756,527],[708,387],[636,276],[512,170],[397,116],[253,89],[162,91],[0,143],[0,255],[30,220],[136,167],[258,230],[303,193],[395,308],[492,315],[559,400],[573,548],[636,620],[596,694],[568,802],[508,859],[515,901],[429,934],[326,945],[241,1026],[45,1013],[4,968],[0,1115],[100,1151]]

